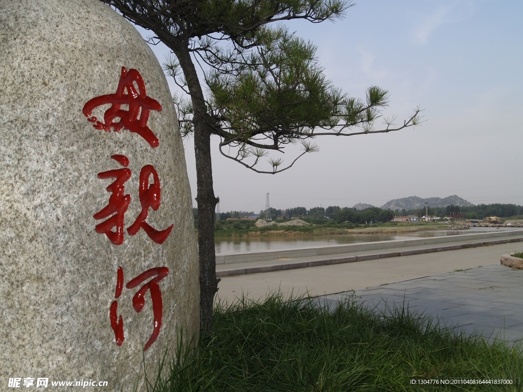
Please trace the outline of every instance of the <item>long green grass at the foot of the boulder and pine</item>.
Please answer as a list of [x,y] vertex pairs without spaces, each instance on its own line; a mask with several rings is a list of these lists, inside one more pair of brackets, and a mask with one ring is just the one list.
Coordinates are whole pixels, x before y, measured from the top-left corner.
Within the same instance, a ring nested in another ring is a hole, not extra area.
[[[155,391],[522,390],[521,348],[486,344],[356,298],[333,311],[311,298],[219,305],[199,356],[170,364]],[[411,379],[512,379],[513,385],[411,385]]]

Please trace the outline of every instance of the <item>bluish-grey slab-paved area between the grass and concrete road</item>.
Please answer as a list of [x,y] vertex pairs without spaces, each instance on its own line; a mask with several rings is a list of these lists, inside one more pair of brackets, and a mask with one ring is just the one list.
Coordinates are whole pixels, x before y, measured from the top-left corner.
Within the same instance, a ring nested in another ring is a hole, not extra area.
[[[364,303],[385,314],[394,307],[430,315],[433,322],[467,335],[523,340],[523,271],[492,264],[357,290]],[[321,297],[329,307],[354,292]]]

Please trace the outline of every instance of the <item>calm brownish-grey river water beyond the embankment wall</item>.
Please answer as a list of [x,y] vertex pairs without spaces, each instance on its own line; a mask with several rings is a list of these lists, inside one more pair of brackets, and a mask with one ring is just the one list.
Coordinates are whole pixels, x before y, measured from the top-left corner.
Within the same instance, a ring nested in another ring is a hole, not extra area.
[[234,255],[236,253],[256,253],[264,250],[301,249],[329,245],[369,243],[391,241],[395,239],[412,239],[441,237],[457,234],[496,232],[500,230],[517,230],[511,227],[471,227],[468,230],[433,230],[402,234],[348,234],[333,236],[292,236],[292,237],[236,237],[215,238],[217,255]]

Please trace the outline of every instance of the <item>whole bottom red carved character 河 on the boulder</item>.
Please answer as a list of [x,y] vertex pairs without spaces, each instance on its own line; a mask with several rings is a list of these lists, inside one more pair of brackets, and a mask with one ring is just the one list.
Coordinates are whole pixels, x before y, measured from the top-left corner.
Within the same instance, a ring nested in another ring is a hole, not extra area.
[[[167,267],[157,267],[157,268],[151,268],[150,270],[147,270],[140,275],[138,275],[136,278],[132,279],[129,283],[126,284],[127,289],[134,289],[134,287],[137,287],[140,283],[144,282],[145,280],[152,278],[152,276],[155,276],[155,278],[151,279],[149,282],[145,283],[140,290],[136,294],[134,294],[132,298],[132,305],[134,307],[134,310],[137,313],[140,313],[145,306],[145,298],[144,295],[147,292],[147,290],[151,291],[151,299],[153,302],[153,333],[149,340],[147,340],[147,343],[145,343],[145,347],[143,348],[143,351],[147,351],[149,347],[151,347],[151,344],[153,344],[156,339],[158,338],[158,335],[160,334],[160,328],[162,327],[162,316],[163,316],[163,302],[162,302],[162,291],[160,290],[160,285],[158,285],[158,282],[160,282],[162,279],[167,276],[169,273],[169,269]],[[120,297],[122,293],[123,288],[123,269],[121,267],[118,267],[117,272],[117,283],[116,283],[116,293],[115,297]],[[116,344],[122,345],[123,343],[123,320],[122,316],[120,316],[119,322],[117,322],[117,307],[118,303],[117,301],[113,301],[111,304],[109,317],[111,320],[111,328],[115,332],[115,338],[116,338]]]

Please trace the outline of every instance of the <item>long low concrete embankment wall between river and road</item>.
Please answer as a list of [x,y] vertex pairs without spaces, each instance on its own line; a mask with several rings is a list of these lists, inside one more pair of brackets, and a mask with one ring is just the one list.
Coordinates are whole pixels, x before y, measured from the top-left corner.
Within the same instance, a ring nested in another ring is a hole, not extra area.
[[414,238],[392,241],[376,241],[347,245],[331,245],[301,249],[267,250],[257,253],[236,253],[235,255],[217,255],[217,264],[242,263],[250,261],[278,260],[285,258],[335,255],[337,253],[353,253],[367,250],[403,248],[409,246],[445,244],[458,241],[476,241],[485,238],[523,236],[523,230],[499,231],[488,233],[458,234],[442,237]]

